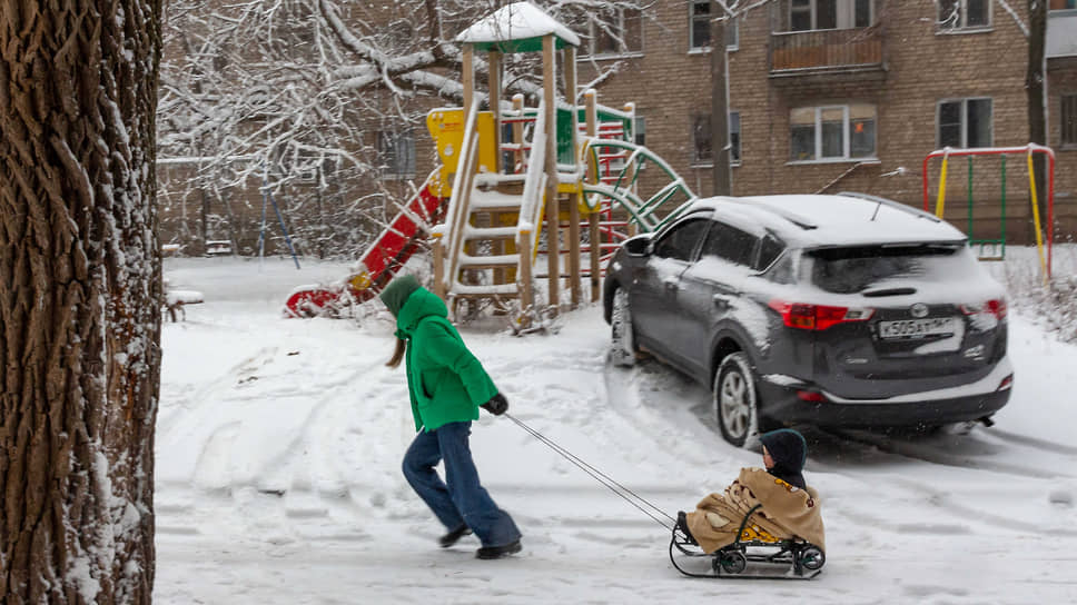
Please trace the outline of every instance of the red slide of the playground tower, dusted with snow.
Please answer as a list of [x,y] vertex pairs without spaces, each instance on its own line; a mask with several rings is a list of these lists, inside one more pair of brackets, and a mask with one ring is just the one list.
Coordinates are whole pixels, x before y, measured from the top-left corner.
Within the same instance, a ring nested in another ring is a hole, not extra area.
[[389,221],[343,284],[299,286],[285,302],[288,317],[333,314],[348,304],[365,302],[382,291],[415,252],[426,229],[445,212],[448,198],[437,195],[435,170],[415,198]]

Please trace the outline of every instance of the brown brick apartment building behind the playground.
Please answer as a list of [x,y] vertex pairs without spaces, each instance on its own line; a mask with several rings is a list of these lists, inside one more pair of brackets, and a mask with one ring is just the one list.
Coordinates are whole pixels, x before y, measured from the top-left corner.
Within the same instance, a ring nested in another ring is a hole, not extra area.
[[[1077,237],[1074,4],[1051,0],[1048,23],[1048,145],[1057,153],[1059,241]],[[595,87],[600,102],[634,102],[638,140],[698,195],[711,195],[709,27],[714,4],[656,0],[645,6],[642,13],[610,9],[607,18],[620,24],[620,36],[574,27],[583,39],[579,81],[583,86],[600,70],[615,67]],[[1027,143],[1026,10],[1025,2],[1015,0],[773,0],[752,9],[727,29],[733,194],[852,190],[920,206],[921,163],[930,151]],[[393,18],[399,21],[401,16]],[[418,185],[434,167],[425,128],[376,128],[364,146],[384,156],[391,190],[405,191],[409,179]],[[950,161],[947,218],[964,229],[970,165],[965,158]],[[1032,240],[1025,166],[1022,157],[1007,160],[1010,241]],[[997,157],[971,162],[977,237],[996,237],[999,230],[1001,168]],[[932,200],[938,170],[939,162],[932,162]],[[175,170],[167,173],[176,177]],[[338,194],[330,204],[354,199],[369,184],[334,187]],[[175,181],[165,189],[176,190]],[[239,206],[247,209],[249,227],[260,210],[257,185],[234,195],[246,199]],[[287,215],[287,195],[278,201]],[[175,214],[184,205],[172,206]],[[239,245],[250,250],[250,241]],[[275,251],[281,251],[279,242]]]

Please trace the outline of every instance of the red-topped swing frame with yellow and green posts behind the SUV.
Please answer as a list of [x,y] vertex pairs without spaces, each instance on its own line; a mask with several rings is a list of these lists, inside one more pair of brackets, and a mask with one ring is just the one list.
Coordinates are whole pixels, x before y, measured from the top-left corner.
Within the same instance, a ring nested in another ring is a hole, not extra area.
[[[1036,173],[1032,167],[1032,156],[1035,153],[1043,153],[1047,158],[1047,229],[1046,229],[1046,244],[1044,236],[1044,228],[1040,224],[1039,216],[1039,198],[1036,190]],[[946,210],[946,187],[947,187],[947,169],[949,167],[949,159],[951,157],[966,157],[968,158],[968,185],[966,188],[967,192],[967,205],[968,205],[968,235],[969,246],[978,248],[980,260],[1004,260],[1006,258],[1006,158],[1007,156],[1025,156],[1027,169],[1028,169],[1028,188],[1029,188],[1029,201],[1031,202],[1031,215],[1034,222],[1034,230],[1036,234],[1036,248],[1039,252],[1039,264],[1040,271],[1044,276],[1044,281],[1047,282],[1051,275],[1051,251],[1054,248],[1054,224],[1055,224],[1055,152],[1049,147],[1044,147],[1041,145],[1029,143],[1021,147],[982,147],[972,149],[954,149],[946,147],[928,153],[923,158],[923,167],[921,173],[923,175],[923,209],[930,211],[929,207],[929,187],[928,187],[928,166],[930,161],[935,158],[941,158],[942,165],[939,171],[939,185],[938,194],[936,195],[935,204],[935,215],[939,218],[945,218],[943,214]],[[974,216],[974,192],[972,192],[972,159],[977,156],[998,156],[1000,158],[1000,225],[999,225],[999,237],[998,238],[975,238],[972,229],[972,216]],[[1046,248],[1046,258],[1045,258]],[[985,254],[985,250],[990,249],[991,254]]]

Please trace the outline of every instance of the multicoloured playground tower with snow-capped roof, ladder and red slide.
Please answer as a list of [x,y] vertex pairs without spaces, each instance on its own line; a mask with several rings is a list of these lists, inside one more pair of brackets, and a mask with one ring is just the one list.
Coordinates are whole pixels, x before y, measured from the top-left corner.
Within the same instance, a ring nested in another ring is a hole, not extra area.
[[[575,97],[580,39],[528,2],[502,7],[456,38],[463,56],[463,107],[434,109],[427,128],[441,166],[401,208],[342,285],[293,291],[290,316],[335,313],[370,299],[417,250],[433,252],[437,296],[454,316],[486,301],[526,327],[540,307],[599,298],[604,259],[620,241],[672,220],[695,199],[672,168],[633,142],[634,108],[600,106],[593,90]],[[557,90],[557,54],[564,90]],[[476,52],[486,53],[488,92],[475,90]],[[542,52],[542,90],[502,99],[505,53]],[[487,109],[480,105],[486,101]],[[641,192],[644,166],[649,181]],[[661,211],[660,211],[661,210]],[[584,267],[584,257],[587,258]],[[544,260],[544,262],[543,262]],[[545,285],[546,301],[536,300]],[[508,307],[516,300],[515,310]]]

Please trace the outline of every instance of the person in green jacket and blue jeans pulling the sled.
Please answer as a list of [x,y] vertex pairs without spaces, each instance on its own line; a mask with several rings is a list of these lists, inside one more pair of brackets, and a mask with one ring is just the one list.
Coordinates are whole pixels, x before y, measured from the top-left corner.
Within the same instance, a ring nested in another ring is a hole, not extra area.
[[[478,483],[468,446],[478,408],[501,415],[508,401],[449,324],[445,304],[413,276],[393,280],[381,298],[396,317],[396,353],[387,365],[397,367],[406,359],[417,432],[404,455],[404,477],[448,529],[439,539],[442,547],[474,532],[483,544],[478,558],[518,553],[520,529]],[[445,463],[444,482],[434,470],[439,460]]]

